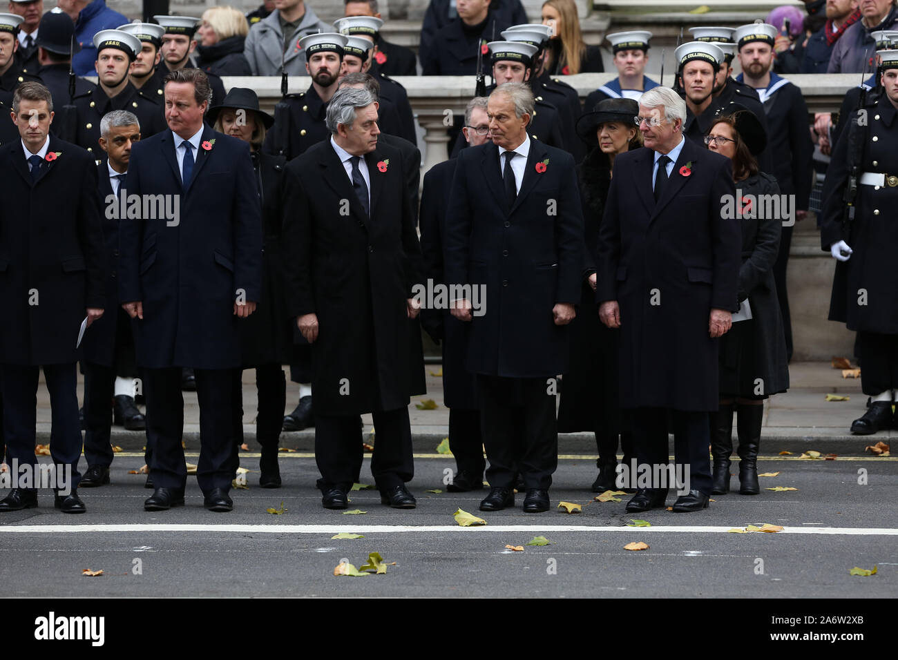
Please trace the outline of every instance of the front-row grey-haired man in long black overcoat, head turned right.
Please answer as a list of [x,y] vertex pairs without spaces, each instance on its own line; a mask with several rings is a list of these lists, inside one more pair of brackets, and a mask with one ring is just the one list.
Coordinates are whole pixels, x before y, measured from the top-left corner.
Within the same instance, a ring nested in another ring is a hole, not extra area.
[[409,318],[420,281],[403,156],[378,145],[365,89],[335,93],[329,140],[287,164],[288,312],[312,344],[315,460],[321,504],[345,509],[362,464],[360,414],[371,412],[371,471],[381,502],[414,508],[409,427]]

